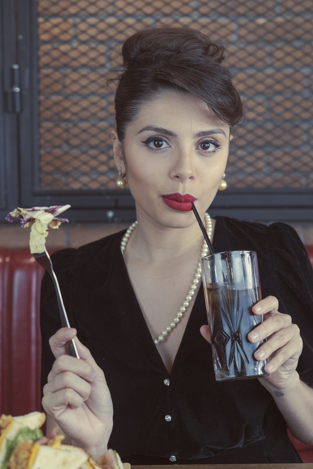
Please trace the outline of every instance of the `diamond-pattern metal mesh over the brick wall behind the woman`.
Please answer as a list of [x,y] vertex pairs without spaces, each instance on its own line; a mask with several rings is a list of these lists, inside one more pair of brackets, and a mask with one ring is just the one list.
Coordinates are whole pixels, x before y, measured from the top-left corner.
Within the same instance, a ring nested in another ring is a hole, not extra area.
[[114,189],[110,128],[123,41],[188,26],[228,50],[246,108],[229,187],[313,188],[312,0],[38,0],[42,189]]

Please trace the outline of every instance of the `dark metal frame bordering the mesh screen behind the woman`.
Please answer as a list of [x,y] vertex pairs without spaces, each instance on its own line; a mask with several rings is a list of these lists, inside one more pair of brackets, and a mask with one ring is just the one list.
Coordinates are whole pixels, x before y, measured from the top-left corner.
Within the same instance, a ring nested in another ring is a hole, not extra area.
[[[22,206],[70,204],[76,221],[129,222],[136,216],[129,189],[46,190],[38,181],[38,39],[37,1],[17,0],[19,63],[22,71],[23,112],[20,114],[20,197]],[[16,169],[16,168],[15,168]],[[17,170],[17,169],[16,169]],[[226,189],[209,212],[249,220],[312,221],[313,189]]]

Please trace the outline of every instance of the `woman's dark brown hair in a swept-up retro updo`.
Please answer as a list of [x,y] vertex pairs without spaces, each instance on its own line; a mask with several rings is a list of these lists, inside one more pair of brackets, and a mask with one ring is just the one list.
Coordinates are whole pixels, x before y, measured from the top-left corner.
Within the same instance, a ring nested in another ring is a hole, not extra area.
[[221,65],[225,49],[204,34],[187,28],[140,30],[122,47],[125,71],[115,94],[120,141],[140,107],[163,91],[186,91],[205,101],[229,126],[243,118],[243,106],[228,68]]

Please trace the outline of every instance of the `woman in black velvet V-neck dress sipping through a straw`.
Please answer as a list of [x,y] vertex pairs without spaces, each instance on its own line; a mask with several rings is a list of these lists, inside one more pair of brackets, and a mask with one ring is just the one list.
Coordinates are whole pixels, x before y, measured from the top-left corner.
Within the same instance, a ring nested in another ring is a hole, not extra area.
[[[117,182],[127,181],[137,224],[53,256],[75,329],[60,329],[46,276],[48,428],[57,423],[94,456],[108,443],[132,464],[299,462],[286,424],[313,442],[313,281],[305,249],[287,225],[205,216],[242,118],[221,66],[223,48],[194,30],[156,29],[129,38],[122,54],[112,139]],[[216,252],[258,252],[264,299],[253,311],[264,322],[249,340],[267,338],[255,353],[270,358],[267,377],[214,379],[197,271],[203,237],[191,200]],[[74,337],[81,360],[65,355]]]

